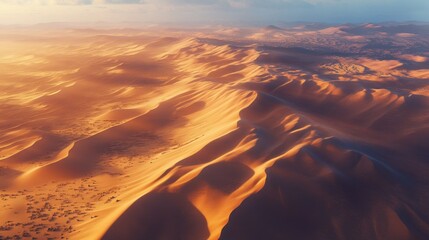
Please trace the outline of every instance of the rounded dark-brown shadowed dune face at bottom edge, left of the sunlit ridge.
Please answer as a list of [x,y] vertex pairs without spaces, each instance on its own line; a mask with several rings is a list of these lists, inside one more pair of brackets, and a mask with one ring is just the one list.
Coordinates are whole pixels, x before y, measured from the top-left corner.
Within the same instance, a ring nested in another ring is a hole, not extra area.
[[114,224],[104,239],[206,239],[204,216],[185,196],[150,193],[123,215],[128,221]]

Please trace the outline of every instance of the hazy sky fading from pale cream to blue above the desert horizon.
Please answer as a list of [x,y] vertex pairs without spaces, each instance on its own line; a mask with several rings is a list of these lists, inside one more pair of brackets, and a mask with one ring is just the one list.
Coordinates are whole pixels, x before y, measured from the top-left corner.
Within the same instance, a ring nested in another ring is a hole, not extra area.
[[0,0],[0,24],[428,21],[429,0]]

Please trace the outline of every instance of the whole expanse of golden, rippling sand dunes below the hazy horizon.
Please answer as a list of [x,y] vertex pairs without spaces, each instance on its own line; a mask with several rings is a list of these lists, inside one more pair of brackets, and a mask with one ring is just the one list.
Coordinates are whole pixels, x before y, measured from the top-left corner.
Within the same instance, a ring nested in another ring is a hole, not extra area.
[[169,31],[0,29],[0,239],[429,238],[426,35]]

